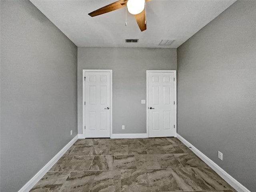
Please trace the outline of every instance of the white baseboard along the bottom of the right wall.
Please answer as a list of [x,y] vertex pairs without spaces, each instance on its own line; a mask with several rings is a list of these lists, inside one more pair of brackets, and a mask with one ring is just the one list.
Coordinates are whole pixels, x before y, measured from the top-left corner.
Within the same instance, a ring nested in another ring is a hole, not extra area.
[[235,178],[233,178],[230,174],[224,171],[220,166],[214,163],[210,158],[208,158],[205,154],[200,152],[196,147],[194,147],[190,142],[184,139],[177,133],[177,138],[184,143],[187,147],[191,147],[192,150],[200,159],[202,159],[210,168],[212,168],[219,176],[221,176],[228,184],[230,184],[235,190],[238,192],[250,192],[245,186],[243,186],[240,182],[238,182]]

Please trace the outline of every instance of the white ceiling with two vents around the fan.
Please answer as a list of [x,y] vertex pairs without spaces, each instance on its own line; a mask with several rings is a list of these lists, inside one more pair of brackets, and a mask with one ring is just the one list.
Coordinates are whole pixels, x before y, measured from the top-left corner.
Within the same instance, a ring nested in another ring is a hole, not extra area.
[[[121,8],[96,17],[88,13],[117,0],[30,0],[78,47],[177,48],[235,0],[153,0],[146,4],[147,30]],[[139,39],[125,43],[126,38]],[[176,39],[159,46],[162,39]]]

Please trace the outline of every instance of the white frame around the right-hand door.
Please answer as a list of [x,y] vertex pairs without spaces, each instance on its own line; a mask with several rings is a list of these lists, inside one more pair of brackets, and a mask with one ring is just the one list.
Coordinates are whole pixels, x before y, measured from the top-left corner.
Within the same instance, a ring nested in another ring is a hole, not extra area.
[[148,130],[148,73],[149,72],[173,72],[174,73],[174,126],[175,126],[175,136],[177,136],[177,78],[176,78],[176,70],[146,70],[146,112],[147,112],[147,136],[149,137],[149,130]]

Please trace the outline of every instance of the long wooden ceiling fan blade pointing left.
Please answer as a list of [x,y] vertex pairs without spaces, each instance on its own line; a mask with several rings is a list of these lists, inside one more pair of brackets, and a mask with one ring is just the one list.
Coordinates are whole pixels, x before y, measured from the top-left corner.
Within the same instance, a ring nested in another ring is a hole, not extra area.
[[101,15],[101,14],[104,14],[104,13],[108,13],[110,11],[120,9],[120,8],[126,6],[126,2],[127,2],[127,0],[119,0],[117,2],[114,2],[112,4],[104,6],[102,8],[99,8],[99,9],[89,13],[88,15],[90,15],[91,17],[94,17],[94,16],[97,16],[97,15]]

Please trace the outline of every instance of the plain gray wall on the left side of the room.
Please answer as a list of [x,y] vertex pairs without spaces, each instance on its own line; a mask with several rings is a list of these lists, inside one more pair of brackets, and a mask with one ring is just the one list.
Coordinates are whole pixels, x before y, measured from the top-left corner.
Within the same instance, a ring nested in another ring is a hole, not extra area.
[[15,192],[77,134],[77,47],[30,1],[0,11],[1,192]]

